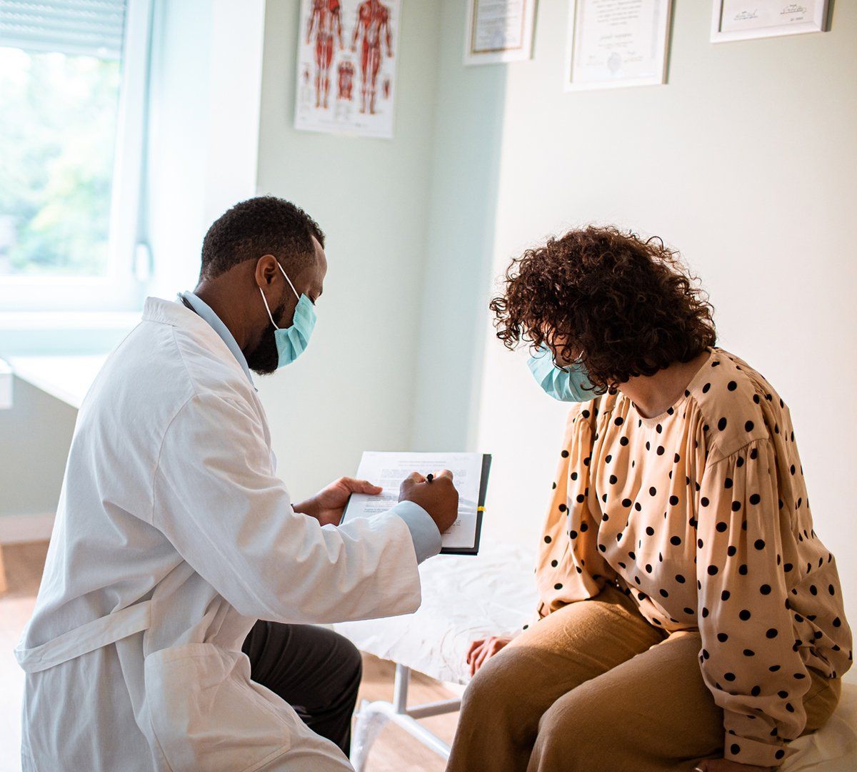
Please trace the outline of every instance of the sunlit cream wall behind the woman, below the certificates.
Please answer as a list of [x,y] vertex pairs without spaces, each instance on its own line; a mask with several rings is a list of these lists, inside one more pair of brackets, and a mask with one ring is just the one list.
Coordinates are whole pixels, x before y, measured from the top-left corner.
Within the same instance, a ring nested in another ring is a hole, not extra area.
[[[669,84],[591,93],[562,90],[566,8],[539,3],[535,59],[506,71],[493,273],[590,221],[679,247],[710,291],[721,345],[791,407],[815,528],[857,622],[857,3],[836,3],[829,33],[711,45],[710,3],[677,0]],[[523,355],[485,340],[488,513],[496,536],[532,541],[564,409]]]

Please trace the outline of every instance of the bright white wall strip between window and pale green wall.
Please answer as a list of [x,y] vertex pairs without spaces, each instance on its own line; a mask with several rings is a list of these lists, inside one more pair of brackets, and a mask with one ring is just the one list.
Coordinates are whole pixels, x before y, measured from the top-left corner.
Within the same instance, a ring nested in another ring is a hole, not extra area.
[[265,0],[155,0],[143,240],[149,294],[193,289],[202,237],[255,195]]

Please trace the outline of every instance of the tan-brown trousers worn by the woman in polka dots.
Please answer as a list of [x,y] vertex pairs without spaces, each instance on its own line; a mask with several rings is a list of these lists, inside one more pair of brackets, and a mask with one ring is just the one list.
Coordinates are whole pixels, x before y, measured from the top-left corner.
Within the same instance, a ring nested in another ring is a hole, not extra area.
[[[447,772],[689,772],[723,748],[698,632],[668,635],[612,585],[496,654],[464,692]],[[806,730],[841,682],[810,670]]]

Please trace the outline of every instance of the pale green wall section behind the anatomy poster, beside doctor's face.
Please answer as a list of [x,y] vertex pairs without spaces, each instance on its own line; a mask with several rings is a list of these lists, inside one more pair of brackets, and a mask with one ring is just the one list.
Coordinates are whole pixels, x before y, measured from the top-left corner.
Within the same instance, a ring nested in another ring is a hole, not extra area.
[[259,192],[318,220],[329,271],[312,345],[258,385],[279,472],[304,497],[364,449],[411,444],[439,24],[429,0],[404,3],[393,140],[293,128],[297,25],[297,0],[268,0]]

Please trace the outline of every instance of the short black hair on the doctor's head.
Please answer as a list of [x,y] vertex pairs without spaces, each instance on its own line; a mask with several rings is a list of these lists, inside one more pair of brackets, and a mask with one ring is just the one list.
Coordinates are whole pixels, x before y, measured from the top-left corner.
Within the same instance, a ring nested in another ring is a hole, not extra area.
[[303,267],[315,256],[313,237],[324,246],[319,224],[302,208],[276,196],[237,203],[202,240],[200,279],[214,279],[241,262],[273,255],[284,267]]

